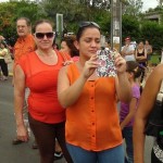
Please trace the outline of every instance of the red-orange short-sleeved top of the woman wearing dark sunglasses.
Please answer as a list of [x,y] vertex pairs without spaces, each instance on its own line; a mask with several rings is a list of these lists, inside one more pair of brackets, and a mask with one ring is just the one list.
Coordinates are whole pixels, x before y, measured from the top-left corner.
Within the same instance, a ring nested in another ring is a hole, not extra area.
[[58,74],[63,65],[63,58],[57,52],[58,63],[43,63],[36,52],[23,55],[17,64],[22,67],[26,87],[30,89],[28,111],[37,121],[55,124],[65,121],[65,109],[58,100]]

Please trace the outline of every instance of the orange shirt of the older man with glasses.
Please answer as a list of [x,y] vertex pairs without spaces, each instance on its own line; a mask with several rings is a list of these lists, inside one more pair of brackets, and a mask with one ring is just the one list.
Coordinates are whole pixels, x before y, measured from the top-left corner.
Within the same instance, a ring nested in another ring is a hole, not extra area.
[[17,62],[20,58],[36,49],[35,40],[32,34],[25,38],[18,38],[14,46],[14,61]]

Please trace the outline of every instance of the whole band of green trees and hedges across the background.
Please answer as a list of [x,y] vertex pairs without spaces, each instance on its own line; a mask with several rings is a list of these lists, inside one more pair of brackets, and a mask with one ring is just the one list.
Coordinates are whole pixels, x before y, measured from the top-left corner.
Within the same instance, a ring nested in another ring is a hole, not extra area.
[[[161,49],[163,25],[141,20],[142,0],[121,0],[123,2],[122,39],[130,36],[137,42],[148,39],[154,49]],[[163,7],[155,8],[163,12]],[[57,13],[63,14],[67,32],[76,32],[80,21],[93,21],[105,36],[111,36],[110,0],[11,0],[0,3],[0,35],[14,43],[16,38],[15,21],[26,16],[34,24],[37,20],[48,18],[55,24]],[[163,14],[162,14],[163,15]],[[162,16],[163,17],[163,16]],[[163,20],[163,18],[162,18]],[[163,23],[162,23],[163,24]]]

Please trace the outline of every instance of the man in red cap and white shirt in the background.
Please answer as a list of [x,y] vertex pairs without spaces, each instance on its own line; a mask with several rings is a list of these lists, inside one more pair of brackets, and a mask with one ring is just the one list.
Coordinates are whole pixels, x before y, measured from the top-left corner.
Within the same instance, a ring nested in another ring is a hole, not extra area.
[[122,57],[124,57],[126,61],[136,61],[135,48],[133,45],[130,45],[130,37],[125,38],[125,46],[122,47],[121,53],[122,53]]

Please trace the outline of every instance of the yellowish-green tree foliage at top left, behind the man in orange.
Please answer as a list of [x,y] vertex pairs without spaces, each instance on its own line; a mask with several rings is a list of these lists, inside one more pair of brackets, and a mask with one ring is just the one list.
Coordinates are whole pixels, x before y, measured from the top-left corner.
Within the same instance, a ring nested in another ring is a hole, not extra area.
[[25,16],[33,24],[39,17],[45,16],[38,9],[37,3],[27,0],[0,3],[0,34],[13,45],[16,39],[16,20]]

